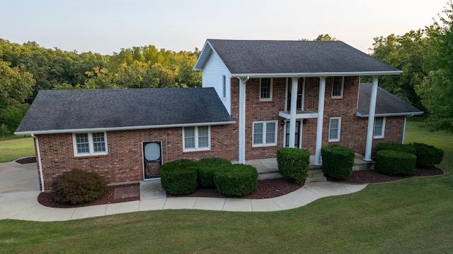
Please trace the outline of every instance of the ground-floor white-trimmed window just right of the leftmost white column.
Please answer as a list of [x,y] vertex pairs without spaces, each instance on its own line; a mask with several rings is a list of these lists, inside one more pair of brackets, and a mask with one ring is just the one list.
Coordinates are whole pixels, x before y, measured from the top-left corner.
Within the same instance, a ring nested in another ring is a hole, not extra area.
[[277,145],[277,121],[253,122],[253,147]]

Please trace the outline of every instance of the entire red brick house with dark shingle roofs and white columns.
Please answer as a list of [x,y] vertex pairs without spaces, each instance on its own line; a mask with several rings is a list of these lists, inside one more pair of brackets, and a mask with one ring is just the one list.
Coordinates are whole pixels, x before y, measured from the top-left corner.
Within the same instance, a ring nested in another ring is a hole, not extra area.
[[207,40],[194,70],[203,87],[38,92],[15,134],[35,138],[42,191],[71,169],[137,182],[175,159],[245,163],[285,146],[315,164],[328,144],[371,160],[377,143],[403,142],[406,116],[423,113],[377,87],[401,71],[343,42]]

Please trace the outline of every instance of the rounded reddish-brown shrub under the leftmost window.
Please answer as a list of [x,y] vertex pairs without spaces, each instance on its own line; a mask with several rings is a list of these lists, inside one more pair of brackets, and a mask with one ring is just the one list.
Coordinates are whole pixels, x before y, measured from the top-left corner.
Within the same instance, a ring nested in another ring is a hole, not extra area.
[[96,173],[74,169],[64,172],[52,183],[53,196],[63,204],[81,204],[101,198],[107,185]]

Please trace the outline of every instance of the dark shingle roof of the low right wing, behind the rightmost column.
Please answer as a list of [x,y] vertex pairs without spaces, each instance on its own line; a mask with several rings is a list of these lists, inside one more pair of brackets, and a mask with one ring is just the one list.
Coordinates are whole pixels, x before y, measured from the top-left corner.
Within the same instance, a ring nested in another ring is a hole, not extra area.
[[[359,103],[357,116],[369,115],[369,98],[371,97],[371,83],[362,83],[359,88]],[[411,116],[423,114],[423,111],[412,107],[390,92],[377,87],[376,116]]]

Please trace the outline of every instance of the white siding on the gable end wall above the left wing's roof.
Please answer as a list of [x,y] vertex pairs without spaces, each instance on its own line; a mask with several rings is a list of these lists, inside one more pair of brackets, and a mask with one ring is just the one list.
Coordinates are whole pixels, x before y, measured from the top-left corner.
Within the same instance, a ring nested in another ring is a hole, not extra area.
[[[225,78],[225,95],[224,79]],[[231,73],[217,53],[212,52],[202,71],[202,86],[214,87],[226,111],[231,114]]]

